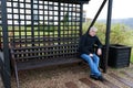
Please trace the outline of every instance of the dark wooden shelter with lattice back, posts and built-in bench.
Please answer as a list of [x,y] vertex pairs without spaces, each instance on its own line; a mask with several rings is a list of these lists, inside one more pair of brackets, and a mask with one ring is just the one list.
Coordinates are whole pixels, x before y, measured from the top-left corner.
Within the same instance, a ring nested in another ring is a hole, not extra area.
[[[108,0],[103,0],[92,26]],[[10,88],[10,63],[18,72],[50,65],[79,63],[78,46],[82,35],[83,4],[89,0],[1,0],[1,44],[4,62],[1,76]],[[109,0],[106,52],[103,70],[106,72],[112,0]]]

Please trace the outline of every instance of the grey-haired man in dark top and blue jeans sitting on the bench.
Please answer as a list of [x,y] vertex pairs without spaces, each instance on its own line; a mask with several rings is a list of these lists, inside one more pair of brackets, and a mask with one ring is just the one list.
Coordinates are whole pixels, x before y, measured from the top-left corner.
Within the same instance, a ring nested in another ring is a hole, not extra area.
[[[85,33],[80,40],[80,56],[84,59],[90,68],[90,77],[96,80],[103,81],[102,74],[99,69],[100,58],[98,55],[102,54],[102,44],[96,36],[98,29],[92,26],[88,33]],[[94,52],[94,46],[98,46],[96,54]]]

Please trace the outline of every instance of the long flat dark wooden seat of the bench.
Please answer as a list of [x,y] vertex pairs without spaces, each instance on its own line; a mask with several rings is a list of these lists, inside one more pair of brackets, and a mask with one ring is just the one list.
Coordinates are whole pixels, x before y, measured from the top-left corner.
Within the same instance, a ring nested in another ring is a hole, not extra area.
[[18,70],[24,69],[33,69],[47,66],[58,66],[65,64],[73,64],[83,62],[81,58],[54,58],[54,59],[45,59],[45,61],[30,61],[30,62],[19,62],[17,63]]

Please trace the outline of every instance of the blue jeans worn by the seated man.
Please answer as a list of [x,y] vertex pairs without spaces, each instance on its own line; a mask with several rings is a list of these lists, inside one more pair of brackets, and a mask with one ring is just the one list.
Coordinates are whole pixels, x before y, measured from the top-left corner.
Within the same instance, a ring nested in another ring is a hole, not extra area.
[[99,70],[100,58],[98,55],[93,54],[93,57],[90,57],[88,54],[82,54],[81,57],[88,62],[91,75],[101,76],[101,72]]

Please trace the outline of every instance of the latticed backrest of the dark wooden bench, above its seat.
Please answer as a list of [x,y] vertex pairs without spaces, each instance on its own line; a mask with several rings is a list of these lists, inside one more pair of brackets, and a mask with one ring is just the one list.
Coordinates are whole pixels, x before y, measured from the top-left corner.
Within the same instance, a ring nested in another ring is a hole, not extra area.
[[30,59],[69,58],[78,56],[78,41],[79,38],[71,37],[12,38],[10,48],[11,54],[13,55],[12,57],[18,62]]

